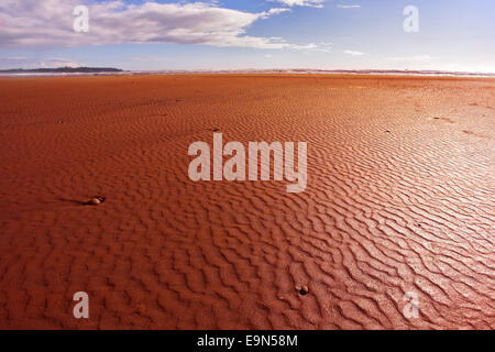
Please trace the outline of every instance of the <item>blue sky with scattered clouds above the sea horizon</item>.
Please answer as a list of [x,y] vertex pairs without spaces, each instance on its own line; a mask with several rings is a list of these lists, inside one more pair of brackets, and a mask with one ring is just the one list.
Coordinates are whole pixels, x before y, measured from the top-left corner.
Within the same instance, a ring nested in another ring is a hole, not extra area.
[[[73,11],[89,9],[89,32]],[[418,9],[419,31],[403,23]],[[2,0],[0,68],[495,73],[493,0]]]

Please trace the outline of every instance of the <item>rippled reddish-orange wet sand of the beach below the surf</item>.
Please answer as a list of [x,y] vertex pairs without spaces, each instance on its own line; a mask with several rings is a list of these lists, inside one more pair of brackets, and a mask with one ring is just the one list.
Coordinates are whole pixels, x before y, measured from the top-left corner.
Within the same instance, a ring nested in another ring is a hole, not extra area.
[[[495,79],[0,78],[0,97],[2,329],[495,328]],[[306,141],[306,191],[191,182],[215,129]]]

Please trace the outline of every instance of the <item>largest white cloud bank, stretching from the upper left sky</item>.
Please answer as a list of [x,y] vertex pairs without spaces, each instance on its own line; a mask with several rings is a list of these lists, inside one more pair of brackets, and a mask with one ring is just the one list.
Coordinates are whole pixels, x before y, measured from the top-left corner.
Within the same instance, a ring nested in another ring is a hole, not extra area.
[[[125,4],[121,0],[86,2],[89,32],[76,33],[73,10],[81,0],[2,0],[0,47],[106,45],[122,43],[174,43],[210,46],[305,50],[278,37],[251,36],[256,21],[290,11],[274,8],[252,13],[221,8],[212,2]],[[319,3],[322,0],[294,0]]]

